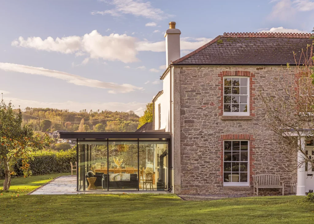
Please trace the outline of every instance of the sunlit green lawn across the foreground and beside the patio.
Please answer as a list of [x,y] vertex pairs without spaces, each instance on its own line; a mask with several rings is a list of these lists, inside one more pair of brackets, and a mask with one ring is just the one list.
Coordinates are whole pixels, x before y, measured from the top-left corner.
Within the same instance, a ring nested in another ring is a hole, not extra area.
[[172,194],[24,195],[21,191],[30,191],[56,176],[13,179],[12,192],[0,196],[0,223],[314,222],[314,204],[298,196],[182,201]]

